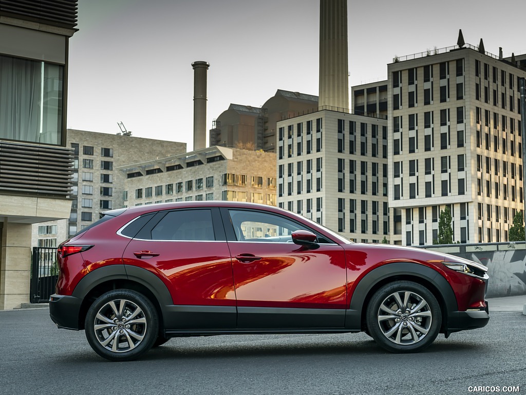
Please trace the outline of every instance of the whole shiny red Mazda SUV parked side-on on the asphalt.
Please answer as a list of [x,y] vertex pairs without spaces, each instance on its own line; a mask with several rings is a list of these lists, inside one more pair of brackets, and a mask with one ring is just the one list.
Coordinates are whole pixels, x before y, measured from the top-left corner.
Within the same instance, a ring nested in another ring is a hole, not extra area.
[[49,311],[100,356],[180,336],[365,331],[392,352],[484,327],[481,264],[352,243],[266,205],[180,202],[107,211],[58,247]]

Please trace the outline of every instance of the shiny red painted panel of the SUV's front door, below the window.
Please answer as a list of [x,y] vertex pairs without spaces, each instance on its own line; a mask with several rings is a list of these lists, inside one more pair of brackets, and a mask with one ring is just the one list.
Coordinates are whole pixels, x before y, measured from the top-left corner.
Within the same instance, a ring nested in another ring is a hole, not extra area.
[[294,243],[229,242],[238,306],[345,309],[345,251],[340,245],[309,250]]

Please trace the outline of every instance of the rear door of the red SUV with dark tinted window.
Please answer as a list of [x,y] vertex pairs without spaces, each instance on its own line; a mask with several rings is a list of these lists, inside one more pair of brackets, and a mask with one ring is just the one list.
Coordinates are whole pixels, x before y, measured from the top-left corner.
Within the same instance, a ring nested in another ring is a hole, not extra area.
[[174,305],[167,329],[232,329],[236,297],[232,264],[218,209],[159,212],[134,236],[127,265],[155,273]]

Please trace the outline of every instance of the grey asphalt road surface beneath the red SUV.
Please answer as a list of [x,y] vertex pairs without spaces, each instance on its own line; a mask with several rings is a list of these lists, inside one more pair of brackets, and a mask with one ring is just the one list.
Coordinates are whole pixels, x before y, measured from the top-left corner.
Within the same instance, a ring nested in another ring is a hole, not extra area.
[[0,311],[0,394],[526,393],[525,351],[526,316],[494,312],[487,327],[439,335],[418,354],[387,353],[364,333],[238,335],[171,339],[108,362],[83,331],[56,329],[48,309]]

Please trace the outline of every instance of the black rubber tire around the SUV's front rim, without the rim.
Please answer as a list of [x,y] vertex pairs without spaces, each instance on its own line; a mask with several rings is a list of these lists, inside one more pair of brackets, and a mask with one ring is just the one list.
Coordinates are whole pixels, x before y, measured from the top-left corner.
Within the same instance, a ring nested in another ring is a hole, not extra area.
[[[392,293],[400,291],[411,291],[420,295],[420,297],[422,297],[429,305],[432,314],[429,332],[422,340],[414,344],[403,345],[392,342],[386,338],[378,324],[378,310],[380,304]],[[375,292],[375,294],[373,294],[367,306],[366,323],[370,335],[382,348],[396,353],[418,352],[429,347],[429,345],[437,338],[442,325],[442,312],[437,298],[434,297],[433,293],[423,285],[413,281],[395,281],[383,285]]]

